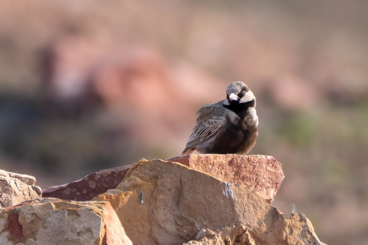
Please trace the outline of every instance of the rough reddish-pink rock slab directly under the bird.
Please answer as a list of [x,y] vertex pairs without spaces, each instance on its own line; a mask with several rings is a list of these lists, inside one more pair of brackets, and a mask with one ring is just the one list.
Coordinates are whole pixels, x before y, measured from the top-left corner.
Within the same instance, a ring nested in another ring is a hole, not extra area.
[[192,154],[165,160],[179,162],[225,182],[247,187],[268,203],[273,201],[284,179],[281,163],[272,156]]

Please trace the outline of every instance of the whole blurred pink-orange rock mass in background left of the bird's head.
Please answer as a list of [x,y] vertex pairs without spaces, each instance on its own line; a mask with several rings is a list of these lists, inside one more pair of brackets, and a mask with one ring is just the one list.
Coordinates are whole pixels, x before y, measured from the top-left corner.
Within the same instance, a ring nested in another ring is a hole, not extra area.
[[[157,114],[147,109],[147,103],[164,104],[171,111],[178,104],[188,108],[195,101],[202,104],[225,95],[218,79],[184,62],[171,62],[160,51],[145,46],[109,48],[99,40],[66,35],[49,52],[47,85],[54,100],[81,97],[92,89],[108,107],[127,103]],[[212,93],[203,93],[209,86]],[[138,93],[145,96],[137,100]]]

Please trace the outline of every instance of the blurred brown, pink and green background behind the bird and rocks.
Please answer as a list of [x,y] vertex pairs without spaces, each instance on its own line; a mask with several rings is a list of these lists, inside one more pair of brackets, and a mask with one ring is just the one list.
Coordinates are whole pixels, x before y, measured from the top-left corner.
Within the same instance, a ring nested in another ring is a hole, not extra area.
[[327,244],[368,241],[368,1],[1,1],[0,168],[46,188],[180,155],[243,81],[273,206]]

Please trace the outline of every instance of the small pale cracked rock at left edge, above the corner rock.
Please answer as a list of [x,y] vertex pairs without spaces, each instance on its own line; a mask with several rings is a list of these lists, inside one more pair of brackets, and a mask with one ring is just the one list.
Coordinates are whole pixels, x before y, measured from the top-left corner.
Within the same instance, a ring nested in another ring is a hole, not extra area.
[[0,208],[41,197],[41,188],[35,182],[33,176],[0,170]]

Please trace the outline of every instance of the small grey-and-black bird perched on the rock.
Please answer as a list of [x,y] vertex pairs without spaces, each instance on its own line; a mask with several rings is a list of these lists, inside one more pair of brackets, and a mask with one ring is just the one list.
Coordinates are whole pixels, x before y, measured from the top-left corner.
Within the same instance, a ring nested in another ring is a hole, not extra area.
[[226,100],[208,104],[197,111],[198,118],[181,155],[247,154],[258,136],[255,97],[243,82],[226,89]]

